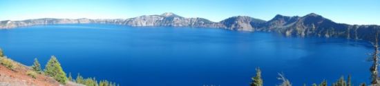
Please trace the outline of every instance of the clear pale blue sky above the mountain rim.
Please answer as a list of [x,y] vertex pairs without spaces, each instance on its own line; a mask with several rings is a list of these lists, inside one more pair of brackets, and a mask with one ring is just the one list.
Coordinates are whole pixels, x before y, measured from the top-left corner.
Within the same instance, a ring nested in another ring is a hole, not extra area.
[[338,23],[380,25],[380,0],[1,0],[0,20],[37,18],[127,19],[173,12],[221,21],[249,16],[268,21],[276,14],[314,12]]

